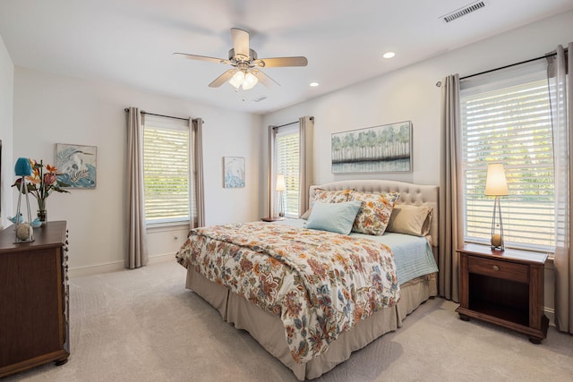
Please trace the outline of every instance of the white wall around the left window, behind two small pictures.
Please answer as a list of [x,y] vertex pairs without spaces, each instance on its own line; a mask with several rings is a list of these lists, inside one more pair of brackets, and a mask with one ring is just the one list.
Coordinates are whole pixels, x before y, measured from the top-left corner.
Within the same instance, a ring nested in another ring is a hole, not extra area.
[[[255,220],[262,215],[258,207],[264,139],[261,116],[21,67],[15,69],[14,89],[13,157],[54,164],[56,143],[98,147],[96,189],[73,189],[70,194],[53,194],[47,199],[48,220],[68,222],[73,276],[124,266],[127,106],[205,121],[207,225]],[[245,157],[247,179],[243,189],[223,188],[222,157],[227,156]],[[187,231],[185,226],[150,230],[150,257],[171,256],[184,242]]]

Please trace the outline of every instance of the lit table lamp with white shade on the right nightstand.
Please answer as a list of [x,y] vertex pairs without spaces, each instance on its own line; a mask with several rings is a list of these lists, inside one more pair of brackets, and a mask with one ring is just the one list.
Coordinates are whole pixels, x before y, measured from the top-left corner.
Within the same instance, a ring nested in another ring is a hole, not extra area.
[[[492,163],[487,166],[485,180],[485,195],[494,196],[492,216],[492,250],[505,250],[503,243],[503,222],[501,220],[500,196],[509,195],[508,182],[505,178],[505,170],[500,163]],[[496,214],[500,220],[500,233],[496,233]]]

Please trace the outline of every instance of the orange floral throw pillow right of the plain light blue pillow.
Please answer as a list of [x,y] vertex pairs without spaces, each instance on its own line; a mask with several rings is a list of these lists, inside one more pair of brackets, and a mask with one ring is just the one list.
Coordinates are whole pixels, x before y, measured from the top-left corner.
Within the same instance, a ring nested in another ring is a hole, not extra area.
[[380,236],[386,230],[399,192],[363,193],[352,191],[351,200],[362,201],[352,231]]

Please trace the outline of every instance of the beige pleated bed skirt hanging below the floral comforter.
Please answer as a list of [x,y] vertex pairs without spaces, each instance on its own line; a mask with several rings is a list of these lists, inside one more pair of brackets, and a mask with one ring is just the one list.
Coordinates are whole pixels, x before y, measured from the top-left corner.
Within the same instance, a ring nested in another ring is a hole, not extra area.
[[211,282],[193,269],[187,270],[185,286],[209,302],[221,317],[237,329],[244,329],[275,358],[293,370],[296,378],[318,378],[339,363],[346,361],[352,352],[362,349],[376,338],[402,326],[402,321],[420,304],[438,295],[436,274],[417,277],[400,285],[398,305],[375,312],[329,345],[329,350],[305,364],[298,364],[286,344],[283,323],[273,314],[261,310],[251,301],[230,293],[224,286]]

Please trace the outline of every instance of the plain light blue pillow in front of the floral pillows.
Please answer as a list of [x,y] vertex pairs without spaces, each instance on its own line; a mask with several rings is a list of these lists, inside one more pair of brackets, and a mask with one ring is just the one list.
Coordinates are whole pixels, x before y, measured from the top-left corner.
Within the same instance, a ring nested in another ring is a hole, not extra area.
[[361,200],[342,203],[314,202],[306,228],[348,234],[352,230],[360,206],[362,206]]

